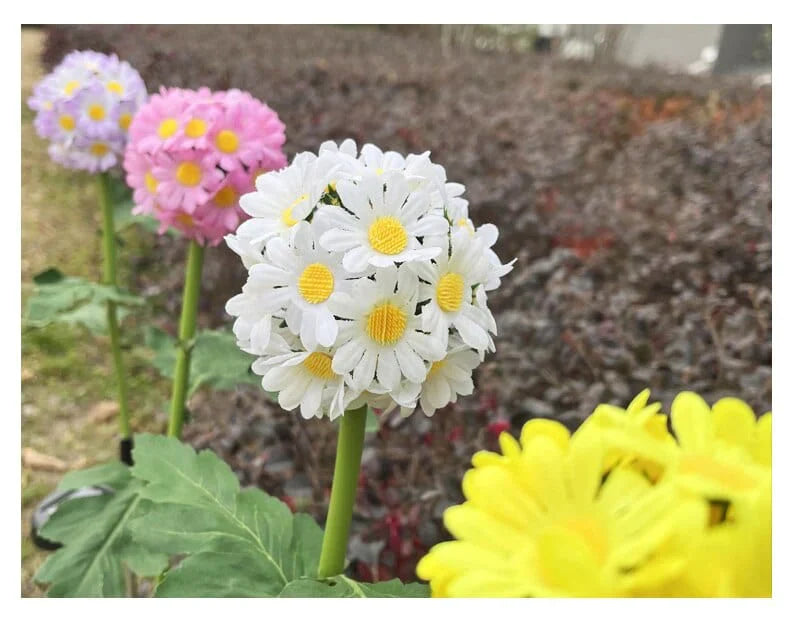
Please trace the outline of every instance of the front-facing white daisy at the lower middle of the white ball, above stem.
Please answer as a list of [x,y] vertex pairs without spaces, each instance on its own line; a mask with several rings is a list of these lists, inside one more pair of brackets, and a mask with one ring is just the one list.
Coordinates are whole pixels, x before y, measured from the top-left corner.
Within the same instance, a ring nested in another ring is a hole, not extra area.
[[403,379],[422,383],[425,362],[444,356],[441,342],[420,331],[415,315],[417,279],[407,269],[380,269],[376,280],[360,279],[351,296],[340,295],[336,311],[349,322],[340,328],[332,369],[347,374],[347,382],[359,391],[373,380],[389,391]]

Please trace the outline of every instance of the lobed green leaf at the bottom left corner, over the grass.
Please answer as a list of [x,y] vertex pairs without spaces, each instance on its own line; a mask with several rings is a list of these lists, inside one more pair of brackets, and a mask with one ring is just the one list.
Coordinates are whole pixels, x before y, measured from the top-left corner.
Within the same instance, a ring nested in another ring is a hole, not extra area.
[[140,495],[143,484],[126,466],[112,463],[70,473],[60,487],[93,484],[116,492],[66,501],[41,529],[43,537],[63,544],[35,576],[50,585],[50,597],[120,597],[126,594],[124,564],[140,576],[167,567],[167,555],[135,544],[128,528],[133,514],[142,516],[150,508]]

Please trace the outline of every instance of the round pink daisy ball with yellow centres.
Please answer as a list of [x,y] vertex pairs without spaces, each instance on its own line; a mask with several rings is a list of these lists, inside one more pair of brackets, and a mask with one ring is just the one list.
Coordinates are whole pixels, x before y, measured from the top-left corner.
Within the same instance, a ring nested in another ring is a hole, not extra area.
[[124,157],[135,214],[217,245],[248,215],[239,197],[286,164],[285,125],[247,92],[162,88],[129,127]]

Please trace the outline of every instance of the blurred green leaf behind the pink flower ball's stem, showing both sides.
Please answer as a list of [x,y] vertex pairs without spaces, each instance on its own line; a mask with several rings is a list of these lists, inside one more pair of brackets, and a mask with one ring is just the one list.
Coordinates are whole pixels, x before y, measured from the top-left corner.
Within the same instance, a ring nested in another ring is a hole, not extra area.
[[[148,330],[146,344],[154,351],[152,365],[166,378],[173,377],[178,342],[164,331]],[[239,349],[236,338],[227,331],[202,331],[192,343],[189,390],[194,394],[203,385],[214,389],[234,389],[241,384],[260,384],[250,370],[253,358]]]

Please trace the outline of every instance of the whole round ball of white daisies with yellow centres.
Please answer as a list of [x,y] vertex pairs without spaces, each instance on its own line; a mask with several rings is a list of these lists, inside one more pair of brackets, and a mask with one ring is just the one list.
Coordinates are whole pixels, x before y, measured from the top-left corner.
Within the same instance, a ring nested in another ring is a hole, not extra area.
[[335,419],[365,403],[426,415],[472,392],[494,350],[487,293],[513,262],[492,250],[429,153],[352,140],[300,153],[242,196],[225,237],[249,277],[226,310],[253,371],[286,410]]

